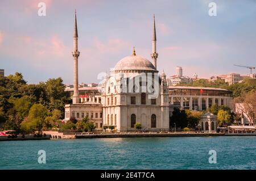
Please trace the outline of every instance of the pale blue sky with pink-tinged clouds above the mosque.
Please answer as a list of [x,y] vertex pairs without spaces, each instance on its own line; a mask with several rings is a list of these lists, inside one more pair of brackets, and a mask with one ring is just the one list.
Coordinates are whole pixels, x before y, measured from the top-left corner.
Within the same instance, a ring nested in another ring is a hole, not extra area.
[[[46,3],[46,16],[38,4]],[[209,16],[210,2],[217,16]],[[158,70],[209,78],[240,73],[255,66],[255,0],[1,0],[0,69],[16,71],[28,83],[63,78],[73,83],[73,24],[77,10],[79,82],[100,82],[132,53],[151,60],[152,16],[155,14]],[[255,71],[254,71],[255,72]]]

